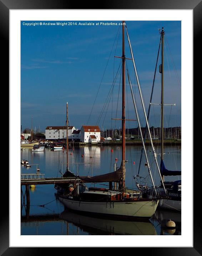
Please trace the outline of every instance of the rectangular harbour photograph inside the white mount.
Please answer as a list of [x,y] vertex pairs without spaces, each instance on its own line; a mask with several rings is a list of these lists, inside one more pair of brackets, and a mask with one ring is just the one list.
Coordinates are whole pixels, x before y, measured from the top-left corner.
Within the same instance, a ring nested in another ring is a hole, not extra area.
[[21,236],[182,235],[181,23],[20,20]]

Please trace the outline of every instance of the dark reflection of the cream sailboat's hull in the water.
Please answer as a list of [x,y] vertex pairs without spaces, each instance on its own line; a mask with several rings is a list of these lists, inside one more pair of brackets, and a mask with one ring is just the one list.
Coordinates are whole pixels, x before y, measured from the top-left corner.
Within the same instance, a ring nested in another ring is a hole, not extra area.
[[62,212],[60,218],[92,235],[157,235],[151,222],[109,220],[80,215],[68,210]]

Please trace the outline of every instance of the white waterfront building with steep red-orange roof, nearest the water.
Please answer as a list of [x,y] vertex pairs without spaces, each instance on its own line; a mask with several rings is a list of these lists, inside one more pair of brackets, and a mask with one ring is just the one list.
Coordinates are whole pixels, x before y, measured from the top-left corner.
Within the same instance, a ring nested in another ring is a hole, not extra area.
[[[94,135],[95,137],[90,137]],[[95,141],[96,139],[96,141]],[[80,131],[80,141],[85,143],[97,143],[100,141],[100,128],[94,125],[83,125]]]

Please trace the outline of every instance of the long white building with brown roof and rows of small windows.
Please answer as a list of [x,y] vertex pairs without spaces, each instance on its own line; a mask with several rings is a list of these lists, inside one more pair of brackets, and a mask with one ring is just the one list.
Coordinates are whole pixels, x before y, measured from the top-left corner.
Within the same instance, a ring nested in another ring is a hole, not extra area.
[[[71,139],[72,132],[76,130],[74,126],[68,126],[68,139]],[[46,139],[66,139],[66,126],[47,126]]]

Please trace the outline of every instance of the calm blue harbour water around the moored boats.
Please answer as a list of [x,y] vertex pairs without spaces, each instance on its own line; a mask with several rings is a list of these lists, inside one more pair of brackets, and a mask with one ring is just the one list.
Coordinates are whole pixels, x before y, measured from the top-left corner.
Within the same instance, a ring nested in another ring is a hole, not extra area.
[[[44,177],[60,177],[63,169],[65,171],[66,151],[62,149],[52,151],[45,148],[44,152],[32,152],[31,149],[21,150],[21,159],[26,159],[31,164],[31,167],[21,166],[21,173],[36,173],[36,167],[40,167],[40,173],[45,174]],[[153,162],[153,153],[150,152],[149,147],[147,150]],[[156,151],[160,153],[157,147]],[[126,146],[127,187],[135,188],[133,176],[138,172],[140,154],[141,147]],[[118,161],[115,161],[115,158],[118,158]],[[115,162],[120,166],[121,147],[118,146],[83,146],[74,150],[69,148],[69,169],[74,173],[78,172],[79,175],[94,176],[113,171]],[[143,157],[140,176],[146,177],[147,183],[150,184],[145,162]],[[181,170],[181,147],[165,147],[164,162],[170,170]],[[152,164],[151,167],[155,184],[159,184],[160,178],[155,165]],[[174,179],[181,179],[181,176]],[[24,193],[24,186],[22,188]],[[116,221],[83,216],[64,209],[64,205],[57,200],[56,190],[52,184],[30,188],[30,207],[21,208],[21,235],[181,235],[179,212],[157,210],[149,222]],[[170,218],[176,223],[175,230],[168,230],[165,227]]]

